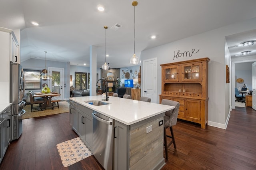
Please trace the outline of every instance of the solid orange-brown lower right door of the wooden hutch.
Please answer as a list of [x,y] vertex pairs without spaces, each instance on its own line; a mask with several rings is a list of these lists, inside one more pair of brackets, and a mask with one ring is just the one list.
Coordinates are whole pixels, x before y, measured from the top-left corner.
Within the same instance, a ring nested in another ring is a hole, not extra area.
[[186,119],[201,120],[201,102],[197,100],[186,100]]

